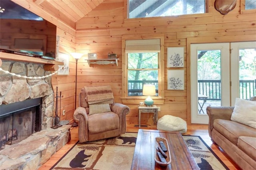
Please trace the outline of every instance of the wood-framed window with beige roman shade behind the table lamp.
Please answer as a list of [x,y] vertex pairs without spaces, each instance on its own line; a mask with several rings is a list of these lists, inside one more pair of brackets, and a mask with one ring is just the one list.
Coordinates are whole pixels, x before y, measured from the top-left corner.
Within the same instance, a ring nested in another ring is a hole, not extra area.
[[[143,38],[143,39],[141,39]],[[148,39],[147,39],[148,38]],[[123,103],[139,103],[143,98],[143,84],[154,84],[158,104],[164,102],[164,36],[134,36],[122,38]],[[129,101],[132,99],[132,101]]]

